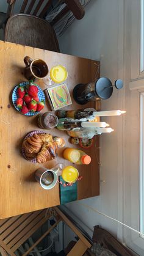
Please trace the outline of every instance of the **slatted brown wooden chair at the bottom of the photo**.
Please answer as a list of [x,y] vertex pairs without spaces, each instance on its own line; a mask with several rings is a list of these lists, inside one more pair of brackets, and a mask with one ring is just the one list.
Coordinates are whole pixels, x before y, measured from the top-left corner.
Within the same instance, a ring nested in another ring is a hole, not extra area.
[[[92,245],[82,235],[75,225],[59,210],[53,207],[56,211],[56,222],[29,248],[23,256],[28,255],[37,244],[40,243],[46,235],[48,235],[60,221],[65,222],[73,232],[79,236],[79,240],[74,244],[68,256],[81,256]],[[48,218],[46,218],[46,210],[35,211],[33,213],[26,213],[20,216],[3,219],[0,221],[0,252],[2,256],[7,253],[10,256],[15,256],[15,251],[26,241],[41,225],[43,225]]]

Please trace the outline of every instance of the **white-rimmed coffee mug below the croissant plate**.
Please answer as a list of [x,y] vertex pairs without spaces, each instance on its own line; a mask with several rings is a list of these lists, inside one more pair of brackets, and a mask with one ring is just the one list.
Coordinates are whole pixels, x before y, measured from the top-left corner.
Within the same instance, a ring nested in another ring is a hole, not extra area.
[[47,169],[40,167],[35,172],[35,180],[40,184],[43,189],[52,189],[57,184],[59,169]]

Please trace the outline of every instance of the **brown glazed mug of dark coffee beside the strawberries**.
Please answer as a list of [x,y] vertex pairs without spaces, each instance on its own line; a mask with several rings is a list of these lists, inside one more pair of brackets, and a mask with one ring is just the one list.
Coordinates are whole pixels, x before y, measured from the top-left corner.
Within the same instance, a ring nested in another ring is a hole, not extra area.
[[24,57],[24,76],[27,80],[43,79],[48,75],[48,65],[44,60],[34,59],[26,56]]

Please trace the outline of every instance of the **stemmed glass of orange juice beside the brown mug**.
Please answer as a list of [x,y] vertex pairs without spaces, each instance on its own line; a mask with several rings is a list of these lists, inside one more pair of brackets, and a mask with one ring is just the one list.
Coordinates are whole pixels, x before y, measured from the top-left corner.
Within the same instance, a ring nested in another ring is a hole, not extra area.
[[56,65],[51,68],[50,75],[46,76],[43,79],[43,82],[46,86],[52,86],[53,84],[60,84],[64,82],[68,77],[68,72],[63,65]]

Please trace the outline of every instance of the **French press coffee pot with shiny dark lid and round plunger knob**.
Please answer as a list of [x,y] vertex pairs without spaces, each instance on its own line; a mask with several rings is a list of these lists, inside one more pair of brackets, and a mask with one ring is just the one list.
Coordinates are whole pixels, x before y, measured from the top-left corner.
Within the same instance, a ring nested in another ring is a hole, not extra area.
[[[123,81],[117,79],[114,85],[117,89],[123,87]],[[77,84],[73,89],[73,98],[78,104],[88,101],[107,100],[113,93],[113,85],[109,78],[99,78],[95,82]]]

